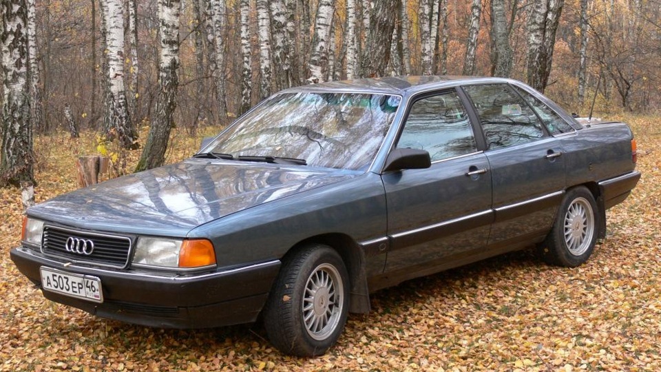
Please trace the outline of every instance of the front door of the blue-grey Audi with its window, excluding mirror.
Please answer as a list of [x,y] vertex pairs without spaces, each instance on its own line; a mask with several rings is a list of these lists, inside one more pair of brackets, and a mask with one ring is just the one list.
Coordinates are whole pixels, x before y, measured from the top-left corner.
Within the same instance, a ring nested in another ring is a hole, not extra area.
[[425,149],[432,165],[382,176],[390,237],[386,276],[439,271],[484,247],[493,220],[489,163],[457,92],[414,101],[397,147]]

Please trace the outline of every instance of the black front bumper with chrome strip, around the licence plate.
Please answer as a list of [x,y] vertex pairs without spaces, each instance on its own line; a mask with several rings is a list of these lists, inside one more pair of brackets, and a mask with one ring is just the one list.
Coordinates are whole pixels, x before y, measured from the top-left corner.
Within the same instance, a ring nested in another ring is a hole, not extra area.
[[101,279],[103,302],[96,303],[45,291],[49,300],[110,318],[162,328],[207,328],[254,322],[280,261],[273,260],[230,270],[204,273],[152,273],[146,270],[109,270],[69,265],[25,247],[10,251],[23,275],[41,288],[42,266],[96,276]]

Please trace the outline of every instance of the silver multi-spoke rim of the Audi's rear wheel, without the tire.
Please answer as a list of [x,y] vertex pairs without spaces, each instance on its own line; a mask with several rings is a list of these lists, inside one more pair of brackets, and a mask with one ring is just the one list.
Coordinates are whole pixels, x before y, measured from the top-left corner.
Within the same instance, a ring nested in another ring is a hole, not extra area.
[[574,256],[584,254],[594,235],[594,212],[585,198],[576,198],[565,214],[565,245]]

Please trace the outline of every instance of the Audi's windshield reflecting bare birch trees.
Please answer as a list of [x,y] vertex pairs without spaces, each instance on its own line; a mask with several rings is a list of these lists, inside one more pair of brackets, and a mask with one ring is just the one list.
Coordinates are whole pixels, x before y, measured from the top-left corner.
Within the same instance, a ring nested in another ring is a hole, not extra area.
[[277,94],[239,118],[203,152],[366,169],[395,118],[400,100],[399,96],[384,94]]

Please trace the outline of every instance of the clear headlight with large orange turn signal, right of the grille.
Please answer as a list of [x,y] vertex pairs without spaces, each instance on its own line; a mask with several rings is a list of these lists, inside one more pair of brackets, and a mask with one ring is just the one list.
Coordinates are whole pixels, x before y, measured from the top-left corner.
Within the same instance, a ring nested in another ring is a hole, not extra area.
[[216,265],[216,251],[207,239],[169,239],[140,236],[133,264],[167,268]]

